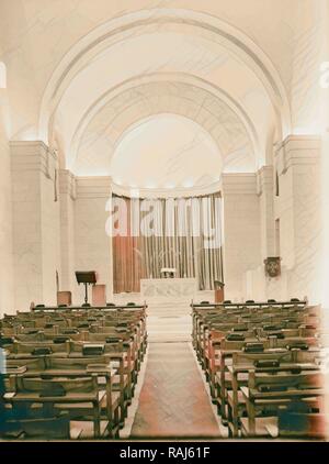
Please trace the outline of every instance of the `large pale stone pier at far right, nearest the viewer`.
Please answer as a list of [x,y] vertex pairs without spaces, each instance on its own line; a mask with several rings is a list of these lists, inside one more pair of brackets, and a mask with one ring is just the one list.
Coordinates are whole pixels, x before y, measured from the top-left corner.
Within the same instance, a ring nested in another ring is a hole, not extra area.
[[287,291],[290,297],[307,296],[311,303],[321,296],[320,153],[319,136],[291,135],[275,154],[280,183],[275,217],[281,222]]

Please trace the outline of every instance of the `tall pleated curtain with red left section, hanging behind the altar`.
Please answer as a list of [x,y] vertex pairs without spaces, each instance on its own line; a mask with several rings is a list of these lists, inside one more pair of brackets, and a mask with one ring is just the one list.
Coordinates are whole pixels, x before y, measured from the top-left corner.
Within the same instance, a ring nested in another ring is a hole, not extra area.
[[162,267],[195,277],[202,290],[223,281],[220,194],[114,199],[124,201],[118,221],[126,221],[123,235],[113,236],[114,292],[139,291],[140,278],[160,278]]

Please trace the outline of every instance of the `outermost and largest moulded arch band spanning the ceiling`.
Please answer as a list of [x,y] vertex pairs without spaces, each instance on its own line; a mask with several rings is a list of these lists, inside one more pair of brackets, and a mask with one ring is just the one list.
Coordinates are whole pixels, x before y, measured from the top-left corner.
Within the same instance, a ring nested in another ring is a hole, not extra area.
[[149,31],[172,29],[192,31],[196,36],[211,37],[212,41],[226,47],[228,53],[242,63],[246,69],[261,82],[262,89],[273,106],[276,130],[283,135],[290,132],[290,107],[284,86],[269,57],[253,41],[215,16],[188,10],[159,9],[143,10],[112,19],[84,36],[67,53],[44,92],[39,113],[39,137],[52,144],[56,111],[60,100],[73,79],[90,66],[95,57],[105,53],[113,43],[120,43]]

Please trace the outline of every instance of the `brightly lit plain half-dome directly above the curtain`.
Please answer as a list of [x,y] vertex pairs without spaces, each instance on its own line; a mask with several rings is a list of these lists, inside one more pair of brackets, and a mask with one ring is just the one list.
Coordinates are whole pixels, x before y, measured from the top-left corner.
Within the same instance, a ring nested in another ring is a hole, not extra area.
[[192,120],[169,113],[133,124],[120,139],[110,172],[117,185],[182,189],[219,180],[223,162],[209,134]]

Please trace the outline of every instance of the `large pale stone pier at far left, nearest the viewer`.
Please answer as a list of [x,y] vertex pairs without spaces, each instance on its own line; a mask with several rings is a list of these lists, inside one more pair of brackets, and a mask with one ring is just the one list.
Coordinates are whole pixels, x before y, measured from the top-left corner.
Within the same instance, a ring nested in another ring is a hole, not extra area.
[[15,309],[56,302],[60,272],[57,155],[39,141],[11,142]]

